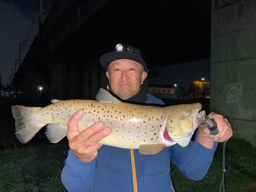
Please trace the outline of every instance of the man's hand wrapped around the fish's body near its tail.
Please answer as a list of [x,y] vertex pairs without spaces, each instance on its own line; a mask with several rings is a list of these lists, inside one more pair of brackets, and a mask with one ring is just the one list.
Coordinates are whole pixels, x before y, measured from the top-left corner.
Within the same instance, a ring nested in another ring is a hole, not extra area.
[[[87,127],[81,133],[78,132],[78,121],[84,114],[83,110],[75,113],[68,123],[69,147],[75,156],[84,162],[93,161],[98,155],[98,149],[102,144],[98,144],[101,139],[111,134],[110,127],[104,128],[104,123],[98,121]],[[104,129],[103,129],[104,128]]]

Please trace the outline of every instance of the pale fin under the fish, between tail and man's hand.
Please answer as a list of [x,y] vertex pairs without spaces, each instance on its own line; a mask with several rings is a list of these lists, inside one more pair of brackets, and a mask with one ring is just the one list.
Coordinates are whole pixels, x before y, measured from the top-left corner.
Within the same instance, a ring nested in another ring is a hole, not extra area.
[[67,136],[68,127],[59,123],[49,123],[46,129],[46,136],[52,143],[57,143]]

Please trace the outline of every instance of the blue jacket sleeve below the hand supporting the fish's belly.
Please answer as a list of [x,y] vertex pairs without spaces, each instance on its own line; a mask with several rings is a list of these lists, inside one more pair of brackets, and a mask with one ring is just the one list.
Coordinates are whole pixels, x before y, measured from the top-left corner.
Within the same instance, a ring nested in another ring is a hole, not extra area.
[[95,178],[96,159],[92,162],[80,161],[70,149],[61,172],[62,184],[68,191],[88,191]]

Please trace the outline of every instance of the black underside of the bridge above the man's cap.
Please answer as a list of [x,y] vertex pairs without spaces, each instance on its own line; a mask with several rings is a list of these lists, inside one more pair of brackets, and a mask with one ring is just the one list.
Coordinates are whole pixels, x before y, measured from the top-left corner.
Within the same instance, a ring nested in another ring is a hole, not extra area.
[[98,62],[122,41],[141,50],[148,68],[210,58],[211,1],[67,2],[52,27],[58,2],[45,20],[42,44],[53,56]]

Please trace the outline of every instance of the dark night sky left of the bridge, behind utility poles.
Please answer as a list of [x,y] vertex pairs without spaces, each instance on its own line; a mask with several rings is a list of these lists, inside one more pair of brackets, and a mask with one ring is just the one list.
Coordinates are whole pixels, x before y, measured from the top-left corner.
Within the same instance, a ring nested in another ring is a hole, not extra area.
[[[54,0],[43,0],[42,10],[45,10],[42,12],[43,21],[53,3]],[[12,69],[15,69],[15,59],[18,59],[19,56],[19,43],[25,44],[25,40],[28,38],[30,42],[26,42],[26,44],[31,45],[31,41],[38,32],[39,16],[35,16],[35,14],[39,14],[39,5],[39,0],[0,1],[0,75],[3,85],[7,84]],[[23,50],[22,59],[27,51],[28,49]]]

